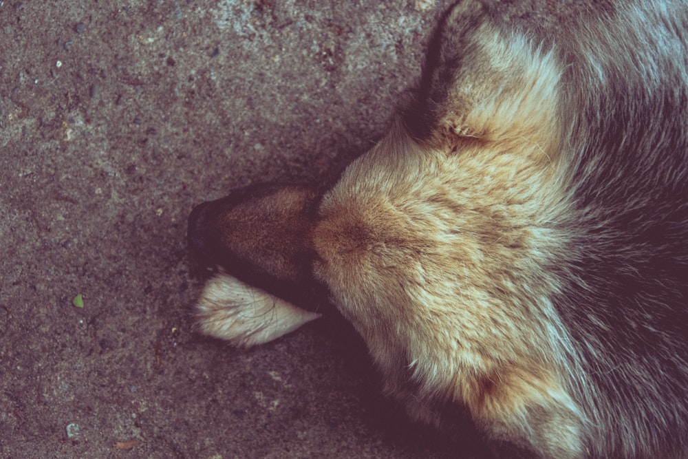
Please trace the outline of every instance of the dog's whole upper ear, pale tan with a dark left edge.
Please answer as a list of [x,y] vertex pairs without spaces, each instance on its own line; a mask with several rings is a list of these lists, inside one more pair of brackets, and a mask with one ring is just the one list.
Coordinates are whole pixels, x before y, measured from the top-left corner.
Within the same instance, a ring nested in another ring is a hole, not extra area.
[[433,147],[465,140],[527,142],[539,150],[558,137],[561,68],[553,50],[519,32],[502,32],[477,1],[449,10],[436,30],[402,119]]

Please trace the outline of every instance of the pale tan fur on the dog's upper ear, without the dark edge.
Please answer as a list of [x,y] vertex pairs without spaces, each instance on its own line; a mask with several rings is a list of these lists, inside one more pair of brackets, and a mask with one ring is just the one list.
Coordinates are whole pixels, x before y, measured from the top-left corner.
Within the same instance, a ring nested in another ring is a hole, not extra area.
[[[481,10],[476,2],[464,2],[447,21],[480,16]],[[460,138],[475,138],[498,142],[493,149],[551,162],[561,138],[557,118],[561,68],[555,54],[535,48],[522,34],[505,36],[490,23],[482,23],[468,41],[464,46],[473,51],[453,76],[450,102],[440,114],[431,142],[447,148]]]

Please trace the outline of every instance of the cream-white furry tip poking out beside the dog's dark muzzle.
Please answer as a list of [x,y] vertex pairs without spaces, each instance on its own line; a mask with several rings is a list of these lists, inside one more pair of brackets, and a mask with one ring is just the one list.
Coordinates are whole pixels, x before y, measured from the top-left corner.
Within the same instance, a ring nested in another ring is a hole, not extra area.
[[208,281],[196,309],[203,334],[244,348],[268,343],[321,315],[225,274]]

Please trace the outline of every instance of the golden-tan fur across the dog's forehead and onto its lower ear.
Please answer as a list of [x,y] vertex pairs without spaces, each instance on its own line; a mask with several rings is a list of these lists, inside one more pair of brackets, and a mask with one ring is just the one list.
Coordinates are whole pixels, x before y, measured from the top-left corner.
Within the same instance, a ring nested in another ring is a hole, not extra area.
[[546,300],[557,281],[540,268],[567,240],[554,227],[568,206],[559,177],[530,150],[503,151],[498,141],[458,155],[389,136],[325,195],[316,275],[363,335],[390,394],[405,396],[401,361],[421,397],[442,392],[486,423],[528,423],[524,405],[540,406],[566,421],[557,441],[575,445],[581,413],[552,361],[566,347]]

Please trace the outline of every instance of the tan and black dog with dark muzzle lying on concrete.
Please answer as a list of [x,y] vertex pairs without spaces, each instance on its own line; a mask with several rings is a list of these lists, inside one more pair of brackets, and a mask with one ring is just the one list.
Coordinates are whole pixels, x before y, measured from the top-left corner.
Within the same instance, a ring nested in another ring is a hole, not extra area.
[[455,3],[371,151],[331,186],[195,206],[205,334],[333,305],[385,392],[525,457],[688,458],[688,3],[557,32]]

